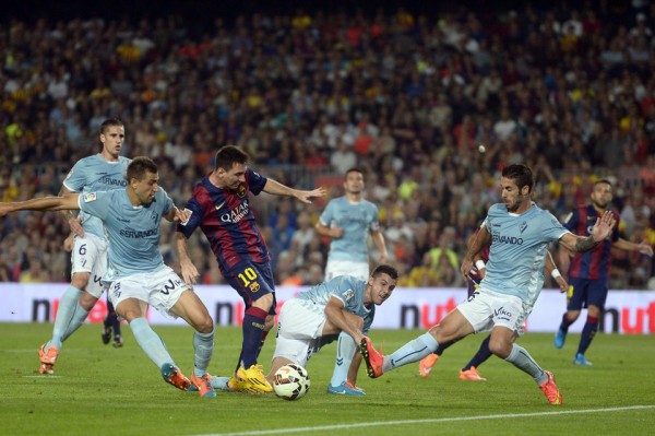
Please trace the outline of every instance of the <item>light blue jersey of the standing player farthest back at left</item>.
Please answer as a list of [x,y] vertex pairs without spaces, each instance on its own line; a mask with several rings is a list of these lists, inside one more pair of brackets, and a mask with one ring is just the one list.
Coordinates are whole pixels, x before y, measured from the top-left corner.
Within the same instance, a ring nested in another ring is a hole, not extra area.
[[[124,189],[128,186],[126,172],[130,162],[122,156],[118,157],[118,162],[107,162],[99,153],[81,158],[63,180],[63,186],[80,193]],[[81,215],[84,217],[82,226],[85,233],[105,236],[100,220],[85,212],[81,212]]]

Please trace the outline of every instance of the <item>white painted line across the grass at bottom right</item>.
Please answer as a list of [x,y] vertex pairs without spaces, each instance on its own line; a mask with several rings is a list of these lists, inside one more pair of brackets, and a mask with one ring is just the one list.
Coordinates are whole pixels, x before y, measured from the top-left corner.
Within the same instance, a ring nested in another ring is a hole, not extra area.
[[572,414],[581,414],[581,413],[602,413],[602,412],[623,412],[623,411],[643,410],[643,409],[655,409],[655,404],[627,405],[623,408],[562,410],[562,411],[552,411],[552,412],[508,413],[508,414],[483,415],[483,416],[437,417],[437,419],[426,419],[426,420],[403,420],[403,421],[374,421],[374,422],[368,422],[368,423],[319,425],[315,427],[274,428],[274,429],[236,432],[236,433],[209,433],[209,434],[194,435],[194,436],[261,436],[261,435],[278,435],[278,434],[289,434],[289,433],[350,429],[350,428],[357,428],[357,427],[371,427],[371,426],[381,426],[381,425],[433,424],[433,423],[448,423],[448,422],[457,422],[457,421],[503,420],[503,419],[508,419],[508,417],[572,415]]

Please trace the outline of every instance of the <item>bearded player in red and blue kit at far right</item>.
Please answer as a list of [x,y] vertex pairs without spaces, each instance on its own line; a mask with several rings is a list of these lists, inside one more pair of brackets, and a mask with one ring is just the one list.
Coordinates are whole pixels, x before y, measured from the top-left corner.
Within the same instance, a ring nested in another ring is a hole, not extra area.
[[[575,235],[591,235],[594,223],[603,215],[611,202],[611,182],[607,179],[596,181],[591,199],[591,204],[573,210],[565,219],[564,227]],[[615,211],[612,213],[617,221],[615,228],[618,228],[619,214]],[[559,330],[555,334],[555,346],[557,349],[564,346],[569,326],[575,322],[583,307],[587,308],[586,323],[582,329],[580,344],[573,360],[575,365],[592,365],[586,360],[584,353],[598,331],[598,319],[605,309],[605,301],[607,299],[607,292],[609,290],[609,268],[611,264],[612,247],[653,256],[653,247],[646,241],[640,244],[631,243],[620,237],[616,231],[593,250],[575,254],[572,259],[568,251],[560,249],[560,264],[562,266],[562,270],[565,271],[567,268],[569,269],[569,291],[567,295],[567,311],[562,317]]]

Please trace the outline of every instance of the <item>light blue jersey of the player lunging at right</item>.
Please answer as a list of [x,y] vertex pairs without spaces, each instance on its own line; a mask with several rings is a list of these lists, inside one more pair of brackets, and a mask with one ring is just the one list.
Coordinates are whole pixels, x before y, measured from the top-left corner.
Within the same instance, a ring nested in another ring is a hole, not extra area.
[[521,215],[509,213],[502,203],[493,204],[483,225],[491,234],[491,246],[480,288],[534,304],[544,285],[548,244],[569,231],[536,204]]

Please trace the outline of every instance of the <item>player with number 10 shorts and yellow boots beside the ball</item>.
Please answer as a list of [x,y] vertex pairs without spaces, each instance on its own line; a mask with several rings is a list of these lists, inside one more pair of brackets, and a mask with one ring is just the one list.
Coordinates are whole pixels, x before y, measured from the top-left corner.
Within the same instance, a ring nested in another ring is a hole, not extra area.
[[214,169],[195,186],[187,203],[191,217],[178,226],[176,248],[182,279],[195,283],[200,274],[187,251],[187,239],[198,227],[206,236],[223,276],[246,303],[241,355],[229,387],[269,392],[272,388],[258,365],[258,355],[274,325],[275,284],[271,255],[257,226],[248,193],[258,196],[264,191],[295,197],[309,204],[311,198],[323,197],[325,190],[289,188],[253,172],[247,166],[248,161],[248,154],[237,146],[218,150]]

